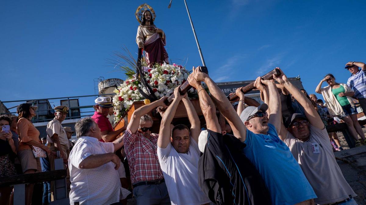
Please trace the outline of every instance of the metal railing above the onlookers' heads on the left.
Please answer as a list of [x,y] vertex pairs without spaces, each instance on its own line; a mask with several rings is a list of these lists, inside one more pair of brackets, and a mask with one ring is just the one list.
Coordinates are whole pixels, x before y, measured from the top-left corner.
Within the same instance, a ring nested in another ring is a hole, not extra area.
[[[14,114],[16,114],[16,107],[19,104],[22,104],[22,103],[25,103],[25,102],[27,102],[27,103],[31,102],[34,106],[38,107],[38,102],[39,101],[46,100],[45,103],[47,103],[49,105],[50,109],[37,109],[36,116],[33,117],[32,122],[37,123],[37,122],[50,121],[54,118],[54,116],[53,116],[54,109],[51,106],[49,100],[60,100],[60,102],[61,102],[61,100],[67,100],[67,107],[69,107],[69,111],[68,111],[69,113],[68,113],[68,117],[66,117],[66,119],[76,119],[76,118],[87,117],[87,116],[93,115],[93,113],[94,113],[93,106],[95,105],[95,103],[94,103],[95,98],[101,97],[101,96],[113,96],[113,95],[115,95],[115,93],[94,94],[94,95],[85,95],[85,96],[53,97],[53,98],[38,98],[38,99],[27,99],[27,100],[1,101],[1,103],[4,104],[5,106],[6,105],[10,105],[10,106],[13,105],[13,107],[8,108],[8,110],[10,112],[2,112],[0,110],[0,115],[14,115]],[[94,97],[94,99],[93,99],[93,97]],[[89,98],[89,99],[87,99],[87,98]],[[73,100],[73,99],[78,99],[79,106],[70,107],[70,100]],[[81,101],[87,101],[87,103],[81,103]],[[14,104],[17,104],[17,105],[14,106]],[[55,104],[59,105],[60,103],[55,103]],[[81,105],[81,104],[87,104],[87,105]],[[8,106],[6,106],[6,107],[8,107]],[[74,109],[79,109],[80,114],[76,115],[76,116],[72,116],[72,110],[74,110]],[[47,115],[39,115],[40,112],[44,112],[44,111],[47,112]],[[52,113],[52,115],[48,114],[49,112]],[[86,114],[86,113],[89,113],[89,114]],[[41,119],[40,116],[46,116],[46,118]],[[49,118],[47,118],[47,116]]]

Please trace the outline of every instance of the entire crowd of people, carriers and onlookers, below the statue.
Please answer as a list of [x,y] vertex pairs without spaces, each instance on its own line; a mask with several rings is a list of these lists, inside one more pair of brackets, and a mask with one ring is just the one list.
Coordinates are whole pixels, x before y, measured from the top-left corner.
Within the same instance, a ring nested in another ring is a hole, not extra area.
[[[41,139],[31,121],[37,107],[20,104],[18,116],[0,116],[0,176],[52,171],[60,159],[71,205],[126,205],[132,196],[139,205],[356,204],[333,154],[343,150],[337,133],[326,131],[346,123],[355,146],[366,143],[355,105],[366,112],[366,65],[348,62],[345,68],[351,73],[347,84],[333,74],[318,84],[315,92],[324,101],[296,88],[278,68],[274,80],[254,81],[264,102],[259,104],[240,88],[230,102],[197,67],[188,82],[197,90],[202,119],[178,87],[169,106],[168,96],[143,105],[117,130],[111,97],[98,97],[94,115],[80,119],[75,131],[61,124],[69,108],[57,106]],[[328,86],[322,88],[323,82]],[[181,101],[188,123],[174,119]],[[155,110],[160,124],[149,115]],[[43,185],[47,205],[55,200],[55,182]],[[27,205],[33,187],[26,185]],[[12,190],[0,188],[0,204],[12,204]]]

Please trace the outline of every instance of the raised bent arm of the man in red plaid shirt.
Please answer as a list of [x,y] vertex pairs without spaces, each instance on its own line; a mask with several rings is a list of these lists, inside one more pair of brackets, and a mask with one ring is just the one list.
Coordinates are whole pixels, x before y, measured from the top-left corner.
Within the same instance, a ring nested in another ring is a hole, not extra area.
[[163,106],[163,107],[168,107],[167,105],[165,105],[164,100],[167,97],[162,97],[157,101],[154,101],[150,104],[144,105],[140,108],[138,108],[137,110],[135,110],[132,113],[130,122],[128,123],[128,128],[130,129],[132,134],[135,134],[137,132],[138,126],[140,125],[140,118],[143,115],[146,115],[147,113],[149,113],[150,111],[152,111],[154,108],[159,107],[159,106]]

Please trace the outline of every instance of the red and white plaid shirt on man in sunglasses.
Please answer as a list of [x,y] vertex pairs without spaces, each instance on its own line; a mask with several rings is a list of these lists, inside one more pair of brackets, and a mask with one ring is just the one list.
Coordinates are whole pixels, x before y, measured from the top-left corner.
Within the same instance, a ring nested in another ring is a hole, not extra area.
[[132,134],[129,128],[126,129],[123,143],[130,166],[132,184],[164,178],[156,153],[158,136],[152,133],[148,140],[139,132]]

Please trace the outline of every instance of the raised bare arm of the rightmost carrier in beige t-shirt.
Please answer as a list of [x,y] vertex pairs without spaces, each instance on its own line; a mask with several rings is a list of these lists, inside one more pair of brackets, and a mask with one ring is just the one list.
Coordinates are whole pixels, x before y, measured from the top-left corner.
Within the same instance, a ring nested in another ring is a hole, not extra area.
[[279,77],[273,77],[277,82],[284,85],[285,88],[294,96],[294,98],[302,105],[305,111],[305,116],[309,120],[309,123],[319,129],[324,129],[324,123],[321,120],[318,112],[315,110],[310,100],[296,87],[294,86],[283,73],[282,70]]

